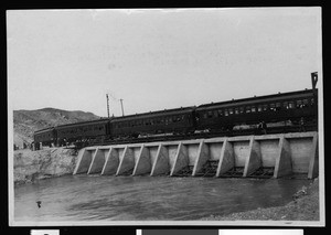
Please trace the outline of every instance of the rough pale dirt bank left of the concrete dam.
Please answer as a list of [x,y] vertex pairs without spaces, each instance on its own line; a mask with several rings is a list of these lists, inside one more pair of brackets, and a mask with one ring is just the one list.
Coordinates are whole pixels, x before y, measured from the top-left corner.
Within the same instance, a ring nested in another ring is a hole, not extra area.
[[73,149],[49,148],[39,151],[30,149],[14,151],[14,184],[71,174],[75,169],[76,161],[77,152]]

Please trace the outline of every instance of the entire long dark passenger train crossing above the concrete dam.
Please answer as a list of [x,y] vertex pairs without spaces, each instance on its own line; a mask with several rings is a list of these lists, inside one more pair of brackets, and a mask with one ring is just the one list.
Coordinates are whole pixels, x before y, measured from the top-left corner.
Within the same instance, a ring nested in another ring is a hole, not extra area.
[[286,127],[305,130],[309,126],[317,129],[317,75],[311,75],[312,89],[60,125],[35,131],[34,145],[88,146],[158,135],[231,135],[245,128],[266,133],[268,129],[279,126],[279,131]]

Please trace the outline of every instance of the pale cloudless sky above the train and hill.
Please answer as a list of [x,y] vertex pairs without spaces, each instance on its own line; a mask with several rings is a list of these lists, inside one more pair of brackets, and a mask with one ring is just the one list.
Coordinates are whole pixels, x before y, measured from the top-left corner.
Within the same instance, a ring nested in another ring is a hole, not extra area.
[[8,104],[107,116],[321,87],[320,8],[11,10]]

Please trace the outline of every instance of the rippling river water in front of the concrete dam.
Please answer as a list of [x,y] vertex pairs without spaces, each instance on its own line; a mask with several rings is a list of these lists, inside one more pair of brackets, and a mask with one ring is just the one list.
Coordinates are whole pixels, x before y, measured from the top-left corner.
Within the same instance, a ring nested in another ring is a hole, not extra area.
[[[14,221],[193,221],[284,205],[308,180],[66,175],[14,188]],[[42,201],[41,207],[36,201]]]

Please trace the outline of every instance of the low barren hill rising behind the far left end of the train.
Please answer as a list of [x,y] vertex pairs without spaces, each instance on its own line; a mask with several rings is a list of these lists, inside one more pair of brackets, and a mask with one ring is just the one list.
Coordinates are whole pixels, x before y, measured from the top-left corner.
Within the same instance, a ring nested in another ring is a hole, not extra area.
[[23,142],[31,143],[33,141],[33,132],[35,130],[99,118],[92,113],[81,110],[68,111],[56,108],[13,110],[13,141],[22,148]]

